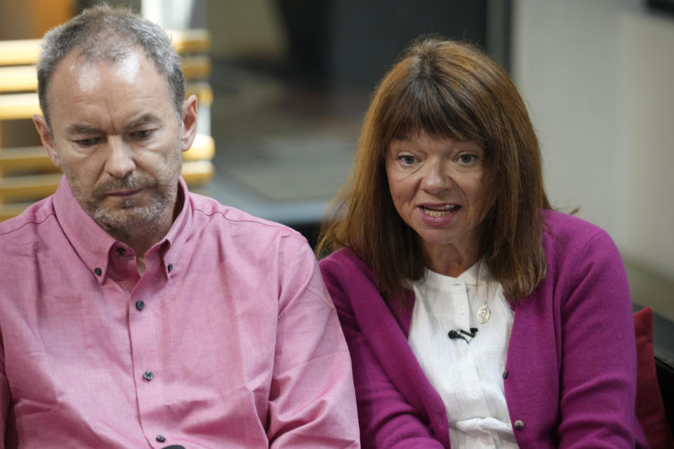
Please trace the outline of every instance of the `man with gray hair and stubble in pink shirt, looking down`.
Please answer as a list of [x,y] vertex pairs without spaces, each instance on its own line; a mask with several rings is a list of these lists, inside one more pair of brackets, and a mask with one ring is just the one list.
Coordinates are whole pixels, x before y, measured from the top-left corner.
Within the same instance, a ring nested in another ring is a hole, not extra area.
[[0,224],[6,447],[357,448],[306,241],[180,177],[197,100],[166,34],[93,8],[46,34],[38,72],[65,176]]

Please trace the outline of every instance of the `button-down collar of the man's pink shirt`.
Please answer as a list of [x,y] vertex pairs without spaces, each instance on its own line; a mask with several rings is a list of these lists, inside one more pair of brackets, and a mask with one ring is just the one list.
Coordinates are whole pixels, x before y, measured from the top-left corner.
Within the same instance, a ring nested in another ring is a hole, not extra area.
[[[187,240],[187,229],[192,222],[192,208],[189,205],[190,196],[183,177],[180,177],[178,181],[178,199],[183,200],[183,208],[180,210],[176,220],[173,221],[168,234],[152,247],[156,248],[159,246],[161,248],[166,245],[163,257],[164,261],[166,261],[164,269],[166,269],[167,276],[171,276],[171,272],[173,271],[173,262],[171,261],[178,260]],[[98,283],[103,283],[110,262],[110,251],[112,250],[112,246],[117,243],[117,240],[105,232],[79,206],[65,176],[61,177],[53,201],[56,217],[70,244],[88,269],[96,276]],[[171,264],[171,269],[169,269],[169,264]]]

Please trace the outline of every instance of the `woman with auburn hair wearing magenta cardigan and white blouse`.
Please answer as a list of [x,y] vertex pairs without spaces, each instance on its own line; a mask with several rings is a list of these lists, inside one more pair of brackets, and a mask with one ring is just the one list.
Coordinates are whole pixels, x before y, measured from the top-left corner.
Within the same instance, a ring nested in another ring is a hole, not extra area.
[[628,284],[555,212],[527,109],[477,48],[414,43],[366,114],[318,254],[364,448],[634,448]]

